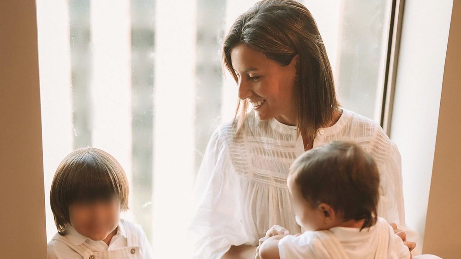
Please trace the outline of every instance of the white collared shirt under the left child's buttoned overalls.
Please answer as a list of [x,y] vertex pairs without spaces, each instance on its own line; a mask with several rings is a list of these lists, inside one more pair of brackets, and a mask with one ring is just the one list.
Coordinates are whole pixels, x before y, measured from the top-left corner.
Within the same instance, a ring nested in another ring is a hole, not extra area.
[[[127,228],[124,227],[124,224],[130,224],[129,229],[136,230],[136,233],[127,233]],[[152,251],[147,240],[146,234],[142,230],[141,226],[133,224],[130,221],[120,219],[117,227],[117,234],[114,235],[107,245],[104,241],[94,241],[89,237],[79,234],[70,224],[66,227],[66,237],[76,246],[85,244],[86,247],[89,247],[93,252],[105,252],[111,250],[117,250],[120,248],[127,247],[128,245],[128,235],[137,236],[136,240],[140,242],[140,253],[142,259],[152,258]],[[56,235],[59,235],[56,233]],[[67,246],[65,243],[59,240],[51,240],[48,242],[48,259],[82,259],[82,256],[74,251],[71,247]]]

